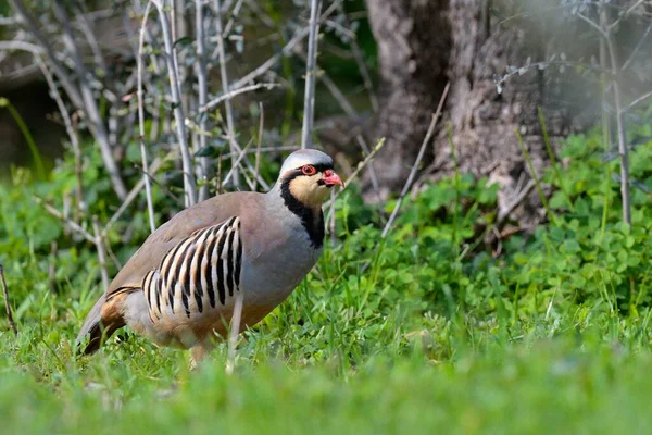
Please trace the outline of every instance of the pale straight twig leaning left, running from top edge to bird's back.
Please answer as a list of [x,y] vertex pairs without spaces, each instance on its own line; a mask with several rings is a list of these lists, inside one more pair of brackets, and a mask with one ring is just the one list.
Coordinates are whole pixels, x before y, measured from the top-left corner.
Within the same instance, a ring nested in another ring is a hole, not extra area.
[[193,206],[197,202],[197,187],[195,184],[195,171],[192,170],[192,159],[190,149],[188,148],[188,139],[186,137],[186,125],[184,123],[184,107],[181,105],[181,91],[179,88],[179,75],[175,63],[175,49],[172,41],[172,32],[170,28],[170,20],[167,13],[163,9],[161,0],[150,0],[159,10],[159,18],[161,29],[163,30],[163,41],[165,44],[165,58],[167,60],[167,77],[170,79],[170,88],[172,92],[172,104],[174,105],[174,117],[176,124],[177,140],[181,150],[181,163],[184,169],[184,191],[186,198],[186,207]]

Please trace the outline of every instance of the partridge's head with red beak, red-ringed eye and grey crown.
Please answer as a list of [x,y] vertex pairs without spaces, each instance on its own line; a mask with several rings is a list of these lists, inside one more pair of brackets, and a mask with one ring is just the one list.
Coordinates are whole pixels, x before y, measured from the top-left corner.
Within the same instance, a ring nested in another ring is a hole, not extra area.
[[284,194],[308,208],[321,207],[334,186],[344,186],[333,170],[333,159],[314,149],[292,152],[280,167],[278,184]]

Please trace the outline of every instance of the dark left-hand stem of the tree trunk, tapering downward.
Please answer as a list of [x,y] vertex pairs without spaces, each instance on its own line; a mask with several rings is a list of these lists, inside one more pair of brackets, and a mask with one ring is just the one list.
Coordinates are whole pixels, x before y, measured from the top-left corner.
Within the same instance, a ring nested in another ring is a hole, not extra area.
[[387,140],[375,163],[384,196],[408,177],[448,80],[447,7],[447,0],[367,0],[380,73],[375,136]]

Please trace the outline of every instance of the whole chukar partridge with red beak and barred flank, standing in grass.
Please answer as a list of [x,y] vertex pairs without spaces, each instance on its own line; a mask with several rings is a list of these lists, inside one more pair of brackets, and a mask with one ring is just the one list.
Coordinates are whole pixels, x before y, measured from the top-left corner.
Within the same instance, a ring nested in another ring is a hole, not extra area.
[[300,150],[284,162],[267,194],[220,195],[161,225],[90,310],[77,341],[129,325],[162,346],[192,348],[197,362],[224,336],[238,293],[251,326],[283,302],[322,252],[322,203],[343,186],[333,160]]

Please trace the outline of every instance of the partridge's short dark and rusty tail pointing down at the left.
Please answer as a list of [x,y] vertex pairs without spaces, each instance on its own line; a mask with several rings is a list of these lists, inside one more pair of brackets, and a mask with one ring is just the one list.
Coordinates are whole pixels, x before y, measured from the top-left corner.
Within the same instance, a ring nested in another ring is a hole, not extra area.
[[[122,298],[111,298],[106,301],[106,295],[102,295],[90,309],[76,339],[77,349],[80,349],[86,343],[82,349],[83,355],[97,352],[106,338],[125,325],[125,321],[117,310],[118,300],[116,299]],[[87,335],[89,336],[88,341],[85,341]]]

